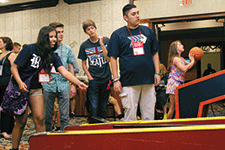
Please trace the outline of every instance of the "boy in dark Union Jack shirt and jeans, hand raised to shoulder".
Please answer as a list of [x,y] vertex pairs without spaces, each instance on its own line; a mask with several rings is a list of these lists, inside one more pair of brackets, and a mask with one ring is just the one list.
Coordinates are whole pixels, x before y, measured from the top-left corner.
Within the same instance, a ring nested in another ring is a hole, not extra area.
[[[83,70],[89,80],[86,101],[88,122],[94,123],[92,117],[106,118],[107,102],[111,92],[111,71],[106,50],[109,39],[96,34],[97,27],[92,20],[83,22],[83,30],[89,38],[81,44],[78,58],[82,60]],[[89,68],[86,64],[87,58]]]

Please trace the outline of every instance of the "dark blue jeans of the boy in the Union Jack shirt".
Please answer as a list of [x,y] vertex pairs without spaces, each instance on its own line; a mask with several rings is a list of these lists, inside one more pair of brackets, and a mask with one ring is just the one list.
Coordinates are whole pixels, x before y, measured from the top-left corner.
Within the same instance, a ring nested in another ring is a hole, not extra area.
[[89,81],[89,86],[87,89],[87,101],[86,107],[89,113],[88,121],[90,118],[106,118],[107,103],[109,99],[109,94],[111,92],[109,86],[109,81],[98,81],[96,79]]

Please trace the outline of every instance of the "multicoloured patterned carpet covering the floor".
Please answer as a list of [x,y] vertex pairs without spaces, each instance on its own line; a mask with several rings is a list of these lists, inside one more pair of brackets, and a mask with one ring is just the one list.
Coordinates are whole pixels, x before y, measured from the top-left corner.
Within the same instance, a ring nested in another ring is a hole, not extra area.
[[[225,107],[223,104],[212,104],[213,109],[209,108],[208,116],[225,116]],[[107,118],[107,121],[113,121],[113,118]],[[87,123],[87,117],[76,117],[75,119],[70,120],[70,125],[79,125]],[[22,140],[20,142],[20,150],[29,149],[29,137],[35,132],[35,127],[32,118],[28,118],[25,130],[23,132]],[[0,139],[0,150],[9,150],[12,147],[11,139]]]

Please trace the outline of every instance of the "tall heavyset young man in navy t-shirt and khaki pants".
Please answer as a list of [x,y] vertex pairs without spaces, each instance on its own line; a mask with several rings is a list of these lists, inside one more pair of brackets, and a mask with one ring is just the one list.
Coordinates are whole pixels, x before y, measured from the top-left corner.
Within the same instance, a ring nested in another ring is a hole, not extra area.
[[156,102],[154,84],[160,83],[159,45],[154,32],[139,25],[140,15],[135,5],[123,7],[123,18],[127,25],[112,33],[108,45],[114,90],[120,93],[125,110],[122,120],[136,120],[138,103],[142,120],[153,120]]

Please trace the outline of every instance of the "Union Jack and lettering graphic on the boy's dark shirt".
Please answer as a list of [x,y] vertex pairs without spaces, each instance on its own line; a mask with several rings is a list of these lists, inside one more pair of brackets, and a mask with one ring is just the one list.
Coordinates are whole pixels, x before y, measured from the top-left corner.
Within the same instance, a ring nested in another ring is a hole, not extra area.
[[101,46],[87,48],[85,49],[85,52],[90,62],[89,65],[102,67],[102,65],[107,63],[105,57],[103,56],[103,50]]

